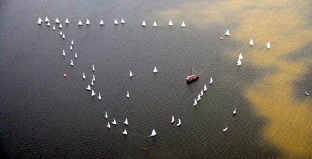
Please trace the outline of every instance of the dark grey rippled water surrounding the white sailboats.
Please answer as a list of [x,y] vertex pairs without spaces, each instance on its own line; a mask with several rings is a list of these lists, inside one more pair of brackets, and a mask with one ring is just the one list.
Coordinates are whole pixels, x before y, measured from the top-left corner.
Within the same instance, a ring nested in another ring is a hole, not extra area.
[[[217,2],[204,3],[210,6]],[[185,7],[189,5],[190,10]],[[268,127],[274,118],[263,115],[261,108],[266,107],[258,107],[259,103],[254,100],[264,98],[267,103],[284,100],[274,94],[265,97],[266,93],[254,89],[266,76],[277,76],[281,83],[287,82],[276,73],[279,70],[272,66],[274,62],[263,61],[266,66],[261,67],[251,60],[258,52],[273,54],[272,49],[264,47],[266,37],[261,39],[263,46],[255,47],[248,46],[251,36],[247,37],[246,44],[241,41],[244,33],[239,38],[232,33],[221,41],[219,37],[224,36],[226,29],[241,29],[240,22],[209,23],[205,28],[205,23],[195,23],[204,18],[201,14],[196,16],[196,9],[205,10],[202,8],[205,5],[191,1],[124,0],[0,2],[1,154],[7,158],[291,156],[287,148],[281,146],[283,143],[268,137],[271,133],[267,132],[276,132]],[[181,16],[176,16],[177,12]],[[220,13],[225,17],[232,14],[218,10],[216,15]],[[43,21],[48,16],[51,26],[37,25],[39,16]],[[54,23],[56,17],[63,29]],[[65,24],[66,18],[71,24]],[[85,24],[87,18],[91,22],[89,26]],[[126,24],[113,24],[114,19],[120,22],[121,18]],[[101,19],[105,26],[99,25]],[[174,23],[172,27],[168,26],[170,19]],[[79,20],[83,26],[77,25]],[[141,26],[143,20],[147,27]],[[154,21],[158,27],[152,27]],[[186,28],[180,27],[182,21]],[[55,31],[52,30],[54,24]],[[60,30],[65,39],[59,35]],[[70,50],[72,39],[74,45]],[[260,37],[258,39],[260,41]],[[300,59],[311,58],[309,49],[303,46],[283,58],[300,62]],[[244,59],[238,67],[235,62],[241,51]],[[78,58],[74,57],[75,52]],[[153,73],[154,66],[158,73]],[[186,84],[185,77],[191,67],[200,73],[200,78]],[[131,78],[130,70],[134,74]],[[81,78],[82,72],[86,79]],[[281,74],[292,76],[293,71],[289,72]],[[64,77],[64,73],[68,76]],[[92,88],[97,95],[101,93],[100,101],[85,89],[93,74]],[[312,93],[311,74],[311,69],[305,70],[300,79],[289,84],[295,92],[292,92],[296,96],[294,103],[307,100],[304,105],[309,113],[311,98],[302,92]],[[214,83],[208,85],[211,76]],[[204,84],[207,91],[194,107],[194,98]],[[269,86],[277,90],[281,87],[274,83]],[[127,91],[130,98],[126,97]],[[275,106],[279,105],[282,104]],[[238,111],[233,116],[235,108]],[[106,111],[108,119],[104,117]],[[277,111],[266,111],[279,115]],[[171,115],[176,121],[181,119],[181,126],[170,123]],[[293,117],[298,116],[299,113]],[[123,124],[126,117],[128,126]],[[107,122],[111,123],[114,118],[117,125],[108,129]],[[283,125],[285,120],[282,118],[279,122]],[[308,125],[310,120],[303,122]],[[223,132],[225,127],[228,130]],[[121,133],[124,128],[127,136]],[[153,129],[157,135],[151,137]],[[309,136],[311,131],[306,130],[304,134]],[[283,133],[277,135],[283,136]],[[310,143],[307,148],[309,146]],[[143,147],[146,151],[142,151]],[[298,155],[305,157],[311,153],[303,152]]]

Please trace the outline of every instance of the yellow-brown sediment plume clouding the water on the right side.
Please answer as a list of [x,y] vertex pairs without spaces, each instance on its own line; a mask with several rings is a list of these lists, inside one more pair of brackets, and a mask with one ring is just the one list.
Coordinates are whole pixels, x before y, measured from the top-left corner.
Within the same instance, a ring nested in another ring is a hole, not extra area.
[[[307,26],[305,11],[311,2],[297,1],[222,1],[183,4],[174,10],[161,11],[161,17],[183,17],[198,24],[199,29],[211,24],[235,24],[231,37],[242,42],[239,48],[246,51],[257,68],[276,70],[263,75],[261,81],[246,86],[243,91],[260,116],[267,119],[263,134],[270,143],[284,152],[283,158],[311,158],[312,156],[312,104],[302,93],[297,100],[295,82],[307,70],[312,59],[290,62],[286,55],[300,50],[311,42],[312,29]],[[310,12],[310,11],[309,11]],[[253,50],[247,49],[253,38]],[[271,49],[266,49],[267,41]],[[246,46],[245,46],[246,45]],[[235,57],[236,58],[236,57]],[[246,61],[246,59],[244,59]]]

